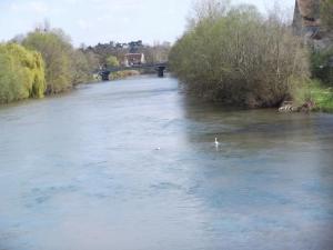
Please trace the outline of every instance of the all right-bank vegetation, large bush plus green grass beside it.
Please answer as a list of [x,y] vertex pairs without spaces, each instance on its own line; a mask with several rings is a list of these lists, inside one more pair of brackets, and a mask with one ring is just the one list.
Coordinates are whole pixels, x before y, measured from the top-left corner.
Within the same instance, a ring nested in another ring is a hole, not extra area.
[[[325,14],[327,26],[330,20]],[[313,101],[329,111],[332,54],[311,51],[276,13],[265,18],[252,6],[208,0],[195,9],[169,61],[190,93],[210,101],[248,108]]]

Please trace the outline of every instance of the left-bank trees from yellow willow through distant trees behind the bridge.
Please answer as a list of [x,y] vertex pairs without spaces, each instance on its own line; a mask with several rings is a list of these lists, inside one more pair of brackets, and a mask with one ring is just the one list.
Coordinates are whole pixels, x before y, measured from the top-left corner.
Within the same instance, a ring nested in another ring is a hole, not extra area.
[[[71,90],[79,83],[95,81],[100,67],[118,67],[125,53],[144,52],[148,62],[165,60],[170,44],[144,46],[142,41],[82,44],[75,49],[61,29],[46,21],[33,31],[0,43],[0,103],[27,98],[43,98]],[[110,80],[137,76],[124,70],[110,74]]]

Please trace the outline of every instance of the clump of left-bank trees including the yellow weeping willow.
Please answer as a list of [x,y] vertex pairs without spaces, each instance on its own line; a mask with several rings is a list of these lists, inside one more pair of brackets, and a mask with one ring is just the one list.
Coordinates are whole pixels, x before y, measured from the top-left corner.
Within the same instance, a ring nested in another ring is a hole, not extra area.
[[38,28],[0,44],[0,103],[68,91],[92,81],[98,64],[62,30]]

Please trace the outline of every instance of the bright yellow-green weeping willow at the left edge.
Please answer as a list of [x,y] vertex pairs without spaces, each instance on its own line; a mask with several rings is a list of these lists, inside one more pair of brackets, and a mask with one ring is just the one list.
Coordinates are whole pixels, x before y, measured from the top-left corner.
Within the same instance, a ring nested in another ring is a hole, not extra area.
[[42,98],[44,90],[41,54],[16,43],[0,44],[0,103]]

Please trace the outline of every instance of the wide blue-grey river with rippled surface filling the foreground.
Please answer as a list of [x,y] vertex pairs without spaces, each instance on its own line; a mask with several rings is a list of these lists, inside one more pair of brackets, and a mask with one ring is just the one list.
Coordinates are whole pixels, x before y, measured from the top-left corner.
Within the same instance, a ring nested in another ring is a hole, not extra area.
[[333,116],[153,77],[0,108],[0,250],[224,249],[333,249]]

